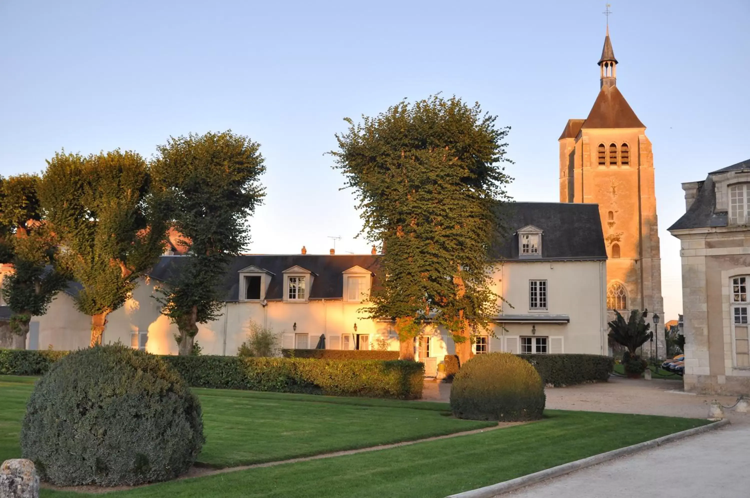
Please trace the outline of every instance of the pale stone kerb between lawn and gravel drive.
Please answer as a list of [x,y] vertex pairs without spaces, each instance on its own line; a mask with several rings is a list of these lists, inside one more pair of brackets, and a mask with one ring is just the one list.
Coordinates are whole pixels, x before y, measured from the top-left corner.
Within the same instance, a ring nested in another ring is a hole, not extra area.
[[682,438],[694,436],[696,434],[703,434],[704,432],[713,431],[718,428],[728,425],[729,420],[724,419],[718,422],[712,422],[710,424],[701,425],[697,428],[688,429],[687,431],[680,431],[673,434],[667,434],[667,436],[658,437],[655,440],[644,441],[632,446],[625,446],[613,450],[611,452],[600,453],[589,458],[582,458],[575,460],[574,462],[563,463],[562,465],[554,466],[550,469],[544,469],[533,474],[523,475],[522,477],[511,479],[510,481],[498,482],[497,484],[490,484],[485,487],[478,487],[477,489],[463,491],[463,493],[456,493],[446,498],[493,498],[503,493],[509,493],[526,487],[537,482],[545,481],[549,478],[558,477],[559,475],[565,475],[575,470],[585,469],[586,467],[597,465],[598,463],[604,463],[608,460],[613,460],[618,457],[625,455],[631,455],[633,453],[641,452],[644,449],[655,448],[665,443],[671,443],[672,441],[681,440]]

